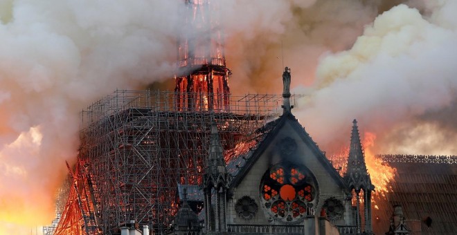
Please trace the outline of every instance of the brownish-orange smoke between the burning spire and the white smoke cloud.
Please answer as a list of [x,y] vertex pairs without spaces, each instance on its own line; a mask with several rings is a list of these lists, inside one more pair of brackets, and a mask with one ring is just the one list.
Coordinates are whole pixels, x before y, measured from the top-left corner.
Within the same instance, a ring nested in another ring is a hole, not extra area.
[[292,68],[293,85],[310,86],[319,57],[350,48],[381,2],[227,1],[222,21],[231,91],[280,93],[285,66]]

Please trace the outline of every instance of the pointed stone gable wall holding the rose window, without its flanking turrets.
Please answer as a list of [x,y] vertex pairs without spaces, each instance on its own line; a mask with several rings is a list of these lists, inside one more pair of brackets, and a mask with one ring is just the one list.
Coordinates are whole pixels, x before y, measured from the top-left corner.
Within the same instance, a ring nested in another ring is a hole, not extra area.
[[339,173],[289,112],[257,135],[249,149],[228,162],[232,204],[249,197],[259,212],[246,220],[240,213],[249,212],[232,209],[231,223],[302,223],[319,213],[330,195],[340,202],[349,195]]

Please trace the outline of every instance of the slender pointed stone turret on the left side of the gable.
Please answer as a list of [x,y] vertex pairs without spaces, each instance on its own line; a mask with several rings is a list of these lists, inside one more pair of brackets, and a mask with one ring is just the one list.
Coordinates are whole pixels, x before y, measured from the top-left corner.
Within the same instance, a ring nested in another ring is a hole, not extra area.
[[[222,144],[213,124],[210,137],[208,165],[204,174],[204,209],[206,232],[217,234],[227,231],[226,201],[231,176],[227,173]],[[215,202],[212,202],[215,194]]]

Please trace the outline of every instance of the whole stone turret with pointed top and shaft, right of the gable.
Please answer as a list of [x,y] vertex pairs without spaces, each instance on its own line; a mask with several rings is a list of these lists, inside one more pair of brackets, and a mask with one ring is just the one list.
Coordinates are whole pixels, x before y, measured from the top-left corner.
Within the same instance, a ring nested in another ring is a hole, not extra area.
[[[344,175],[348,187],[355,191],[355,200],[357,202],[357,210],[355,214],[355,222],[358,232],[364,230],[366,234],[373,234],[371,224],[371,191],[375,187],[371,184],[370,175],[366,169],[364,151],[361,147],[359,129],[357,121],[354,120],[352,125],[352,135],[350,138],[350,149],[348,156],[348,168]],[[365,224],[362,226],[360,218],[360,192],[363,191],[363,205]]]

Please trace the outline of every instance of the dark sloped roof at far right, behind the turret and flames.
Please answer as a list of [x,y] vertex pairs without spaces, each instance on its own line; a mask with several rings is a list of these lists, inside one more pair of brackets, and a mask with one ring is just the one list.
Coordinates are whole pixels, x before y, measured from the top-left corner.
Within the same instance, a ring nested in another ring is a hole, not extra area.
[[[376,198],[379,209],[373,209],[375,234],[384,234],[388,229],[393,205],[402,206],[406,220],[417,220],[422,234],[455,234],[457,164],[411,162],[411,156],[397,158],[388,163],[397,169],[388,185],[392,191],[386,197]],[[411,222],[406,225],[415,232]]]

